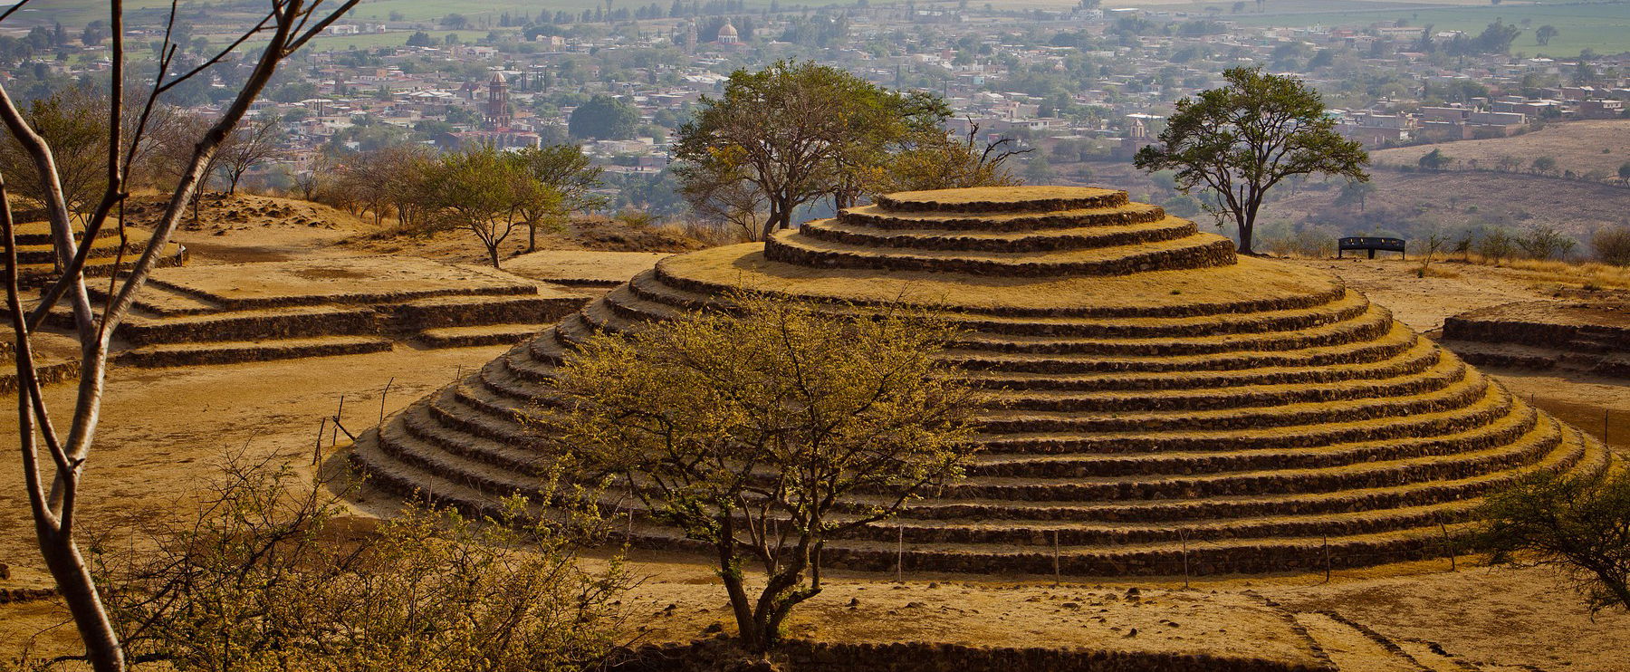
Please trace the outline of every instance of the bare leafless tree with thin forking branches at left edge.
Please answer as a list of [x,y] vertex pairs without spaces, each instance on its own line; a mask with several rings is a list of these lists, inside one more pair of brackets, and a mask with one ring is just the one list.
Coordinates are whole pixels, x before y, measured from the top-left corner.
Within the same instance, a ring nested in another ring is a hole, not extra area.
[[[324,0],[266,2],[269,7],[259,21],[231,39],[222,51],[191,69],[176,65],[176,55],[184,46],[171,39],[176,23],[176,5],[171,5],[165,39],[158,49],[158,67],[155,69],[152,88],[140,104],[140,113],[135,114],[137,121],[134,127],[127,129],[124,124],[127,65],[124,49],[124,2],[109,0],[108,15],[112,44],[108,116],[104,119],[109,139],[104,165],[106,184],[96,206],[85,217],[82,240],[75,240],[72,222],[68,220],[68,201],[62,188],[52,145],[28,122],[11,93],[5,86],[0,86],[0,124],[16,139],[34,165],[34,178],[42,186],[41,192],[51,223],[52,245],[62,269],[60,276],[44,287],[41,302],[34,310],[26,312],[18,281],[16,228],[13,225],[5,176],[0,176],[0,235],[5,237],[7,243],[7,312],[10,313],[11,329],[16,338],[18,447],[21,450],[24,489],[34,519],[41,556],[73,617],[80,639],[85,643],[85,661],[98,672],[124,670],[126,656],[73,533],[82,478],[85,476],[85,466],[90,460],[91,444],[101,419],[108,351],[114,329],[130,312],[137,292],[147,284],[160,256],[165,254],[166,243],[181,220],[186,202],[191,199],[194,189],[199,188],[199,181],[204,179],[207,163],[215,157],[238,122],[243,121],[249,111],[249,104],[277,72],[277,65],[355,7],[359,0],[326,2],[328,7],[324,7]],[[20,0],[7,8],[0,13],[0,23],[28,7],[28,3],[29,0]],[[251,41],[254,42],[253,46],[249,46]],[[220,117],[199,134],[192,145],[192,160],[176,181],[163,215],[153,223],[152,233],[145,237],[143,251],[134,261],[129,261],[126,274],[108,281],[108,300],[93,307],[90,292],[86,290],[85,263],[98,237],[119,235],[124,238],[127,235],[122,204],[129,196],[126,191],[132,163],[132,150],[129,148],[140,147],[140,140],[147,132],[147,121],[152,111],[161,103],[165,91],[170,91],[181,82],[199,77],[215,64],[236,59],[240,47],[244,47],[248,52],[258,52],[249,57],[253,70],[243,82],[241,91],[222,109]],[[109,228],[109,217],[116,210],[119,217],[112,217],[114,230],[106,232]],[[33,359],[34,329],[64,300],[72,308],[73,333],[80,343],[80,383],[73,406],[65,416],[54,411],[41,393],[41,380]],[[41,452],[44,452],[44,463]]]

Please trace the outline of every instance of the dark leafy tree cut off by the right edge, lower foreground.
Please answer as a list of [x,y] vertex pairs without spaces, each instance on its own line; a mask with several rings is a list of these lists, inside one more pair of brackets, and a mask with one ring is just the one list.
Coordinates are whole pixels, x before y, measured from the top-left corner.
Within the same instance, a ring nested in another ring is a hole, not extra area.
[[1490,496],[1482,514],[1496,561],[1560,568],[1591,613],[1630,610],[1630,470],[1540,471]]

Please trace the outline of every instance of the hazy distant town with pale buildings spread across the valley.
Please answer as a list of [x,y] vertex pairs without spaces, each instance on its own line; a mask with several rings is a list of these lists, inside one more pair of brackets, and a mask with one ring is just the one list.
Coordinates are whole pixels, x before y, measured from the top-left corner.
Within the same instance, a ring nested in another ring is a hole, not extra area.
[[[1630,52],[1534,55],[1560,31],[1496,20],[1482,31],[1408,21],[1260,26],[1273,3],[1205,11],[1108,8],[998,10],[960,3],[748,8],[738,0],[435,21],[346,20],[289,64],[258,103],[275,117],[282,152],[246,176],[287,189],[315,157],[417,142],[442,148],[577,144],[605,166],[608,207],[683,210],[668,179],[668,137],[703,96],[738,69],[813,59],[874,83],[932,91],[955,109],[947,130],[1035,147],[1020,170],[1126,160],[1159,134],[1177,99],[1213,88],[1234,65],[1294,73],[1319,88],[1340,132],[1369,148],[1522,134],[1537,124],[1625,116]],[[230,7],[183,5],[171,42],[178,67],[218,51]],[[1363,16],[1363,15],[1356,15]],[[129,44],[165,38],[163,13]],[[33,26],[0,36],[0,82],[42,98],[108,69],[106,24]],[[484,34],[482,34],[484,31]],[[346,49],[326,41],[367,36]],[[465,36],[465,38],[461,38]],[[474,38],[469,38],[474,36]],[[207,114],[235,93],[243,59],[168,98]],[[1490,166],[1495,168],[1495,166]],[[1526,166],[1524,166],[1526,168]],[[1579,176],[1617,181],[1615,175]]]

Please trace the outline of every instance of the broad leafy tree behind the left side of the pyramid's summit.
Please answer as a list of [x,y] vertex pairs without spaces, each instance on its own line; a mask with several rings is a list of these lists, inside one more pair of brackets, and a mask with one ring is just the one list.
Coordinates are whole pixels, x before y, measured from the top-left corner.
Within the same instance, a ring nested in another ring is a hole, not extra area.
[[852,204],[864,192],[866,168],[949,114],[936,96],[887,91],[813,62],[737,70],[724,96],[703,98],[678,130],[681,192],[698,202],[747,181],[768,209],[760,235],[769,237],[810,201]]

